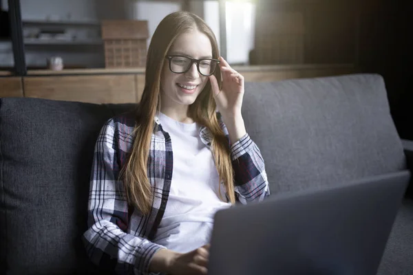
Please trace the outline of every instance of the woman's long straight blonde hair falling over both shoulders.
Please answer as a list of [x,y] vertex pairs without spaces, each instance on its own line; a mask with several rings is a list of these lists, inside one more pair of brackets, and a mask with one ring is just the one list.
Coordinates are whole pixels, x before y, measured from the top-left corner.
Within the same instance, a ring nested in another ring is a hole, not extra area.
[[[125,184],[129,204],[138,208],[142,214],[149,214],[153,197],[151,184],[147,176],[147,165],[151,137],[155,126],[154,118],[160,110],[160,77],[166,60],[165,56],[167,56],[169,48],[180,34],[194,29],[209,37],[213,58],[218,58],[218,43],[211,28],[200,17],[189,12],[174,12],[165,17],[156,28],[149,45],[145,89],[136,113],[135,140],[120,174]],[[214,75],[218,83],[221,83],[219,68],[215,69]],[[211,84],[208,82],[195,102],[189,106],[189,116],[195,122],[206,126],[211,132],[211,151],[220,176],[220,182],[224,182],[229,201],[235,203],[229,143],[220,127],[215,108]],[[222,199],[221,192],[220,197]]]

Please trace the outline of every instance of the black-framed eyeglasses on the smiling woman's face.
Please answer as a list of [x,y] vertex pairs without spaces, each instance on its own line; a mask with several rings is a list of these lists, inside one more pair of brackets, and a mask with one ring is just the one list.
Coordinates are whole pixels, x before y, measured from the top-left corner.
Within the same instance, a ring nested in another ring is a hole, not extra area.
[[207,59],[195,59],[188,56],[177,56],[171,55],[166,56],[169,60],[169,69],[175,74],[184,74],[189,71],[193,63],[196,63],[198,72],[202,76],[211,76],[215,69],[217,68],[220,61],[218,59],[207,58]]

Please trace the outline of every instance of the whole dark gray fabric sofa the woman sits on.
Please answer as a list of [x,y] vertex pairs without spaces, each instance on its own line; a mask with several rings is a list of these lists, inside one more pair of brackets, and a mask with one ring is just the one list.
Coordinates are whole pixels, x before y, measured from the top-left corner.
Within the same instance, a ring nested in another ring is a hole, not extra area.
[[[133,107],[1,99],[2,273],[108,273],[89,263],[81,242],[90,168],[100,127]],[[324,188],[412,164],[405,157],[412,157],[412,142],[404,143],[410,151],[403,152],[381,76],[246,83],[243,112],[266,161],[272,194]],[[409,192],[379,274],[413,274]]]

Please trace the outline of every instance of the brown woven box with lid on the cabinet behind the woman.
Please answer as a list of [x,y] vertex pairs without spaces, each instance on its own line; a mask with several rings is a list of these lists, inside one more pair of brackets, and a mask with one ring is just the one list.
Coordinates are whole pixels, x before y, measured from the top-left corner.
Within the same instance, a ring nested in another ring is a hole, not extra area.
[[145,67],[148,37],[147,21],[103,21],[105,67]]

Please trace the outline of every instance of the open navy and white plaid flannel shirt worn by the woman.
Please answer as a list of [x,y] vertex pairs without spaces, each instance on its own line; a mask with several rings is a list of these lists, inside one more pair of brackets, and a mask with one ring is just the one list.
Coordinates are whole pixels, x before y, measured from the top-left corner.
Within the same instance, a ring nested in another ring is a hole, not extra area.
[[[153,203],[147,215],[128,205],[123,181],[118,179],[134,141],[134,115],[120,115],[106,122],[96,141],[89,189],[89,229],[83,234],[83,241],[93,263],[118,274],[149,274],[153,254],[163,248],[151,239],[167,206],[173,152],[171,137],[163,131],[158,118],[155,122],[147,167]],[[224,123],[220,124],[228,136]],[[211,146],[211,133],[206,127],[201,128],[200,138]],[[269,195],[264,160],[248,134],[232,144],[231,158],[237,201],[260,201]]]

